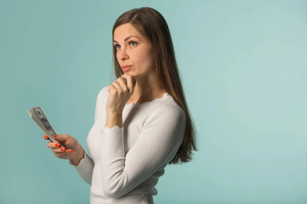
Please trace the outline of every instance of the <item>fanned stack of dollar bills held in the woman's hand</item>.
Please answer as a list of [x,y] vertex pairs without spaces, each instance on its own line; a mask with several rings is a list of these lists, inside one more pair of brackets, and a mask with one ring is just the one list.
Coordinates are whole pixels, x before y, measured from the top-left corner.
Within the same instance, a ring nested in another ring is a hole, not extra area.
[[50,125],[47,117],[45,116],[45,114],[43,114],[42,110],[39,107],[31,108],[30,110],[28,110],[28,114],[52,142],[59,143],[61,147],[64,147],[60,142],[56,141],[52,137],[53,135],[57,135],[54,132],[52,126]]

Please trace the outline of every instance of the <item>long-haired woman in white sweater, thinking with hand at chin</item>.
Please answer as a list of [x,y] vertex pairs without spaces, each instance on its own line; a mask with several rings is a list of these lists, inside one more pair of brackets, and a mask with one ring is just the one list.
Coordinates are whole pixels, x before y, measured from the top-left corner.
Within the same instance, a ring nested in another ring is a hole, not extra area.
[[[70,135],[48,142],[91,185],[91,203],[153,203],[167,164],[192,160],[196,135],[164,17],[143,7],[113,27],[115,74],[98,93],[86,154]],[[46,138],[47,139],[47,138]]]

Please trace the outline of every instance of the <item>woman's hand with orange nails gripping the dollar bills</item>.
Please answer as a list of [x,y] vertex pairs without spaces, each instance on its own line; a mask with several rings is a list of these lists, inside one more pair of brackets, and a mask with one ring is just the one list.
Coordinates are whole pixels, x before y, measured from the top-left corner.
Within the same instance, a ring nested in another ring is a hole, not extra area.
[[[43,139],[49,140],[46,135],[43,136]],[[80,161],[83,158],[84,149],[76,138],[67,134],[63,134],[54,136],[54,139],[58,142],[61,142],[64,146],[60,147],[59,143],[52,141],[47,143],[47,147],[51,148],[56,157],[60,159],[70,159],[72,161]]]

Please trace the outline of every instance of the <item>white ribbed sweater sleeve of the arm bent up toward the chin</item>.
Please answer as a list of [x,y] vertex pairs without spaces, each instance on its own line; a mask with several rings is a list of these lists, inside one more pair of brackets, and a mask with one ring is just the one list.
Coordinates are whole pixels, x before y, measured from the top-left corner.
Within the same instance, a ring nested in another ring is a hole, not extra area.
[[186,129],[184,110],[164,105],[146,119],[142,132],[125,156],[124,127],[100,129],[100,164],[103,193],[120,197],[136,188],[172,158],[183,141]]

